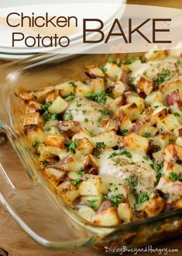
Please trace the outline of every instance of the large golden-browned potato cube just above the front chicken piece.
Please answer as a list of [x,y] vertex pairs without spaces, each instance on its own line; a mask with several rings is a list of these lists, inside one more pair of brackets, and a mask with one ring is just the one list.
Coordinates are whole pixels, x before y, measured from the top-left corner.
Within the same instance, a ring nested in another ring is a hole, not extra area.
[[129,150],[136,150],[147,154],[149,150],[149,140],[135,133],[128,133],[124,137],[123,146],[129,148]]

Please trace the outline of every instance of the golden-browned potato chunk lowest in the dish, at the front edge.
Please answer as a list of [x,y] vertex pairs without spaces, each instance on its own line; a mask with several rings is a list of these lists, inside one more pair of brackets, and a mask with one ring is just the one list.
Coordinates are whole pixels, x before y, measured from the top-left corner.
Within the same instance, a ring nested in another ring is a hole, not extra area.
[[115,226],[120,223],[120,220],[118,219],[117,209],[110,207],[106,211],[92,217],[91,222],[98,226]]

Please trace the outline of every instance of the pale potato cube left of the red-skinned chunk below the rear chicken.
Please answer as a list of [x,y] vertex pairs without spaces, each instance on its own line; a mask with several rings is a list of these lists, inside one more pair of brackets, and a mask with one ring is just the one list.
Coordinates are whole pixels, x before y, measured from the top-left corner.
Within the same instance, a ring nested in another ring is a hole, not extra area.
[[156,107],[163,105],[163,103],[163,94],[160,91],[151,92],[145,99],[146,106]]

